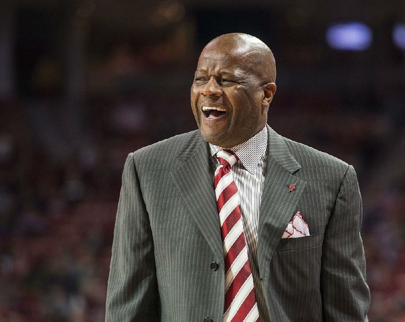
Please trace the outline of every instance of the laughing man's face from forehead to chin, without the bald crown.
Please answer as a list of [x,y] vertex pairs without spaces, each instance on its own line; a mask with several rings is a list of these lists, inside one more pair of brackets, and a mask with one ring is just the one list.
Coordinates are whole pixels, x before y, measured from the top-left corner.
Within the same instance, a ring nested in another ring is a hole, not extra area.
[[249,140],[267,122],[265,82],[249,54],[205,49],[191,86],[191,108],[204,139],[229,148]]

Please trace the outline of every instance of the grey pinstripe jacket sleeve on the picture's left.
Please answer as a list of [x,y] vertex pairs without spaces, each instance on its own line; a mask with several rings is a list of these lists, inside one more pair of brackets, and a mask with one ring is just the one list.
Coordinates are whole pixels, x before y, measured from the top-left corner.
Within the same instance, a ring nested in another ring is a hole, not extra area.
[[153,238],[132,153],[127,157],[115,220],[106,321],[156,321]]

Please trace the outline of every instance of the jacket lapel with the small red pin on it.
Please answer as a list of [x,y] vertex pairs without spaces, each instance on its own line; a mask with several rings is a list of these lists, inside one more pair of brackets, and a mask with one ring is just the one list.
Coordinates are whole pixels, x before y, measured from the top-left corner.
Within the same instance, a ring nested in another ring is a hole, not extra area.
[[[267,280],[268,263],[281,235],[294,215],[305,181],[294,175],[301,166],[291,154],[284,138],[269,126],[267,168],[260,204],[258,231],[258,264],[260,275]],[[289,192],[289,185],[295,189]],[[264,273],[264,275],[263,275]]]

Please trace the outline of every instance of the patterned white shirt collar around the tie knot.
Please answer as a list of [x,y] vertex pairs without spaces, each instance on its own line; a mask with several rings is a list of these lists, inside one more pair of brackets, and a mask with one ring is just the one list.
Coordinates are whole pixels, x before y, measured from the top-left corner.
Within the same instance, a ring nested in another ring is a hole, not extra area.
[[[211,157],[222,150],[218,145],[210,144]],[[260,159],[266,154],[267,151],[267,128],[264,127],[255,136],[251,137],[248,141],[240,143],[230,148],[237,157],[241,164],[250,173],[253,173],[260,162]]]

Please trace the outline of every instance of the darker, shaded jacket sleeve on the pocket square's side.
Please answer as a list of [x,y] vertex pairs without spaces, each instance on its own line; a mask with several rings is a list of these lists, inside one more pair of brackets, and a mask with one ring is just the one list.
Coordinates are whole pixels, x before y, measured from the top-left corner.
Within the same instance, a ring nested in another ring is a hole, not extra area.
[[370,292],[360,236],[362,206],[356,173],[349,166],[325,231],[321,296],[326,321],[367,321]]

